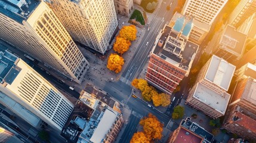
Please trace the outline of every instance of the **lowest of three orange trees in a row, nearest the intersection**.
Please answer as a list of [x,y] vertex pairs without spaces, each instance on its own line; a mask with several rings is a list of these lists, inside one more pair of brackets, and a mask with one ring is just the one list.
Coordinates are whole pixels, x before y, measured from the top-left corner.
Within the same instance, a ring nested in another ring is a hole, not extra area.
[[124,65],[124,58],[118,54],[110,54],[109,59],[107,60],[107,69],[119,73],[122,70]]

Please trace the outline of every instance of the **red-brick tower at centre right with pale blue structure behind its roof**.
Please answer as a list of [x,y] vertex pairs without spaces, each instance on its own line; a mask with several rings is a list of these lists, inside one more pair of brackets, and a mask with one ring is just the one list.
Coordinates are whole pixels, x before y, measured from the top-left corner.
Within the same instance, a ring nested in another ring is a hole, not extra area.
[[159,33],[150,52],[145,79],[167,94],[189,75],[198,51],[198,45],[188,41],[191,29],[192,20],[177,18],[173,29],[166,25]]

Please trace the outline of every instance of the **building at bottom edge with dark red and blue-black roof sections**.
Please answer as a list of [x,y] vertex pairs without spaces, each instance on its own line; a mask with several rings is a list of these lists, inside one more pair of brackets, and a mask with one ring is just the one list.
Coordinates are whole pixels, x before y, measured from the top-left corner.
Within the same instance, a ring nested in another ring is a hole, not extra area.
[[213,138],[211,133],[198,123],[192,122],[190,117],[186,117],[181,121],[180,126],[171,133],[166,143],[211,143]]

